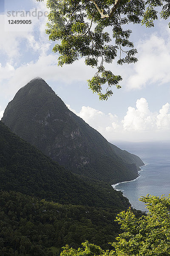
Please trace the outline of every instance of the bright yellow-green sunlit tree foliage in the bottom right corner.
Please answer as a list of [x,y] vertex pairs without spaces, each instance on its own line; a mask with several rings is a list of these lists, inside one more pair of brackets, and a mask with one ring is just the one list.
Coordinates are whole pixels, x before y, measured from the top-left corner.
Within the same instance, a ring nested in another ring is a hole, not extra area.
[[170,195],[139,199],[147,205],[148,214],[135,217],[131,209],[120,212],[116,221],[124,233],[113,242],[113,250],[105,251],[86,241],[83,249],[66,245],[61,256],[168,256],[170,255]]

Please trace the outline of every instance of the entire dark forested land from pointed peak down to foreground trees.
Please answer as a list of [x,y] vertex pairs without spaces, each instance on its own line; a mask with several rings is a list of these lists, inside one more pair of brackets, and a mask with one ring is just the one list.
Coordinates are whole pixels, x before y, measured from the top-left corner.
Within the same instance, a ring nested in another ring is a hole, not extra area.
[[116,214],[130,206],[110,184],[136,177],[142,160],[108,143],[42,79],[20,89],[3,122],[0,254],[56,256],[85,240],[109,248],[121,232]]

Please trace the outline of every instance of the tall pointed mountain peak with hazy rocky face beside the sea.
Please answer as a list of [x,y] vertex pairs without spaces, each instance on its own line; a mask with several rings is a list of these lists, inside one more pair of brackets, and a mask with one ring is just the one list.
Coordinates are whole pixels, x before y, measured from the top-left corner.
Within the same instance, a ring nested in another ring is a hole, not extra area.
[[15,134],[79,175],[112,184],[138,175],[138,162],[122,161],[108,141],[68,110],[43,79],[33,79],[17,92],[2,121]]

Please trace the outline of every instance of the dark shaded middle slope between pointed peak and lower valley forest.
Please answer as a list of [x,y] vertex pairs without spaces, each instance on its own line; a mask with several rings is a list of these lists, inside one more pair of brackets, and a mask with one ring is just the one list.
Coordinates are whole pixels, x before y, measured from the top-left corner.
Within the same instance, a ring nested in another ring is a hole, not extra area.
[[0,189],[61,204],[125,209],[130,204],[104,182],[83,179],[13,134],[0,121]]

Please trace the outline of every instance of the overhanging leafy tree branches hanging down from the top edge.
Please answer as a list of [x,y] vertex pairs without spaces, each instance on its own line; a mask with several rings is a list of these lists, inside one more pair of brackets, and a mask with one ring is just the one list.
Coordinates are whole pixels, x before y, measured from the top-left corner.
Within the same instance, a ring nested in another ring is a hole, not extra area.
[[60,55],[58,65],[84,58],[86,65],[96,67],[88,85],[101,100],[113,94],[113,85],[119,89],[122,80],[120,75],[105,70],[105,64],[114,59],[119,65],[137,61],[128,24],[152,27],[158,16],[170,16],[169,0],[47,0],[47,7],[46,33],[50,40],[57,41],[53,52]]

